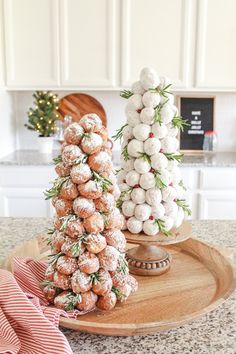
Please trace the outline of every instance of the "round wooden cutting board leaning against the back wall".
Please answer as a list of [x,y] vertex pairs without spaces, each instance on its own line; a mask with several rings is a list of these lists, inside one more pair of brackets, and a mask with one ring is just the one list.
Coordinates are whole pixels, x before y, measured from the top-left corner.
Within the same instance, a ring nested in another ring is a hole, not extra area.
[[73,121],[78,122],[87,113],[96,113],[107,126],[106,112],[101,103],[94,97],[85,93],[72,93],[60,100],[59,113],[62,118],[70,115]]

